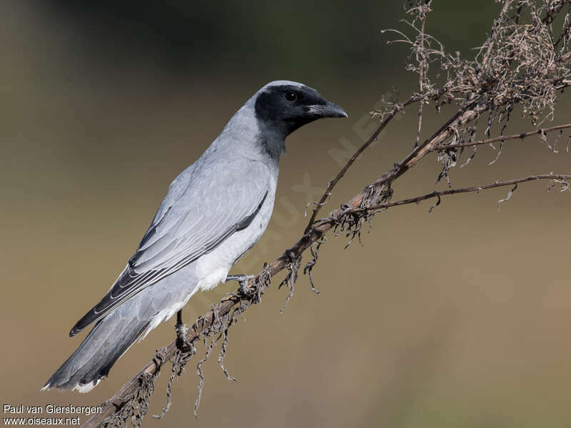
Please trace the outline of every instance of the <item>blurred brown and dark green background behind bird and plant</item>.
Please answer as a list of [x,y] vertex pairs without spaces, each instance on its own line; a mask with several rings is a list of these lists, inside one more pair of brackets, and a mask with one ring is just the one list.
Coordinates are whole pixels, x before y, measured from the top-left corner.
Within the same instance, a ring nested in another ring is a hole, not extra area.
[[[89,394],[39,389],[85,336],[69,328],[108,290],[173,178],[196,160],[268,81],[302,81],[349,114],[286,141],[266,235],[233,272],[261,270],[297,240],[303,208],[373,131],[368,112],[416,78],[400,1],[2,0],[0,14],[0,394],[11,405],[98,405],[174,337],[173,320],[138,343]],[[428,33],[465,56],[498,4],[435,1]],[[571,111],[562,101],[556,123]],[[432,109],[425,136],[446,118]],[[322,211],[378,178],[412,148],[415,108],[355,163]],[[510,132],[530,131],[513,121]],[[498,130],[495,128],[497,135]],[[565,134],[567,136],[567,134]],[[478,137],[483,137],[483,127]],[[553,136],[551,137],[553,138]],[[565,137],[564,137],[565,138]],[[564,146],[562,143],[560,145]],[[451,173],[455,187],[570,172],[569,153],[540,138],[492,148]],[[434,156],[395,184],[395,198],[435,185]],[[389,210],[364,246],[329,237],[314,276],[229,333],[225,365],[206,363],[198,420],[198,358],[164,404],[159,378],[146,427],[567,427],[571,383],[571,198],[547,183]],[[308,259],[304,259],[304,263]],[[276,278],[274,284],[281,278]],[[235,284],[193,297],[190,321]],[[198,348],[198,357],[203,355]],[[5,415],[4,415],[5,416]],[[81,421],[85,422],[86,417]]]

